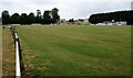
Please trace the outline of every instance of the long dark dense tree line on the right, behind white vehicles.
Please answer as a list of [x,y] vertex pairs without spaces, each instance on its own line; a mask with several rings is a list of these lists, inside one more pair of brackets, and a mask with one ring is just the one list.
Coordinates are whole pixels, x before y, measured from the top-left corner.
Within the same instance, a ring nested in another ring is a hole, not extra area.
[[116,11],[116,12],[109,12],[109,13],[98,13],[92,14],[89,18],[89,21],[93,24],[102,23],[104,21],[126,21],[129,25],[133,24],[133,10],[130,11]]

